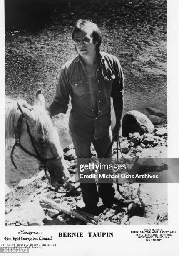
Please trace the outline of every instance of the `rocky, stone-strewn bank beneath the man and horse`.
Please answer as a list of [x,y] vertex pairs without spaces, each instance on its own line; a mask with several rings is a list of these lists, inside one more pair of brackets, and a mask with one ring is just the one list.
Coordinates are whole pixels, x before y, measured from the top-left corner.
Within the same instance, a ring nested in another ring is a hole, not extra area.
[[[161,179],[164,177],[167,172],[167,166],[164,163],[164,158],[167,158],[167,125],[155,125],[154,133],[140,135],[135,132],[129,134],[128,137],[122,137],[121,146],[131,174],[135,172],[134,159],[139,156],[138,170],[144,165],[144,161],[142,161],[144,158],[145,161],[156,158],[160,161],[159,163],[153,161],[152,164],[150,161],[150,164],[145,164],[145,171],[142,173],[138,171],[138,173],[159,174]],[[91,149],[92,160],[96,160],[96,152],[93,147]],[[114,161],[116,161],[116,143],[113,147],[113,153]],[[64,148],[64,158],[71,175],[70,181],[72,181],[75,173],[77,173],[76,156],[72,144]],[[126,171],[122,173],[127,174]],[[99,214],[101,220],[118,225],[167,224],[167,184],[139,183],[134,179],[122,179],[119,180],[119,184],[122,194],[139,204],[143,212],[142,214],[141,212],[134,212],[134,216],[131,217],[131,205],[128,209],[119,208],[115,205],[111,209],[106,209],[100,200],[98,206],[101,209]],[[77,185],[68,183],[62,191],[73,189]],[[40,197],[45,196],[65,207],[70,207],[72,210],[76,207],[85,206],[80,188],[70,196],[50,191],[43,170],[31,179],[22,179],[13,190],[7,187],[6,193],[6,225],[85,225],[81,220],[52,209],[40,201]]]

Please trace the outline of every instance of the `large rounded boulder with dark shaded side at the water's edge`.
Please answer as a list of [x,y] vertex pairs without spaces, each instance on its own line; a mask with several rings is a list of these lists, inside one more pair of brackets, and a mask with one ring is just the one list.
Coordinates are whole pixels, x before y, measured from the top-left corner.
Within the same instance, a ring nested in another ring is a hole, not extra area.
[[144,115],[139,111],[132,110],[127,112],[122,119],[122,132],[124,136],[127,136],[128,133],[134,132],[139,132],[140,134],[153,133],[154,125],[147,115]]

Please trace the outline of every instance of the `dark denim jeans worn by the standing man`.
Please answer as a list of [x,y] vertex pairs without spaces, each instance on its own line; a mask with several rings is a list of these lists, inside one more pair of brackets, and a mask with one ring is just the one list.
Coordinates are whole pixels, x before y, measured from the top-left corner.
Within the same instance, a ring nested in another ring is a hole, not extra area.
[[[91,159],[91,143],[93,144],[98,159],[102,159],[107,152],[111,142],[112,142],[112,131],[111,127],[109,131],[104,134],[104,136],[98,139],[84,139],[78,136],[76,133],[72,132],[69,129],[70,136],[75,148],[75,153],[77,156],[77,168],[79,172],[80,164],[89,164]],[[106,156],[107,159],[112,159],[113,152],[112,148]],[[104,159],[105,160],[105,159]],[[105,161],[103,161],[105,163]],[[85,174],[90,174],[90,170],[87,170]],[[92,182],[92,179],[90,179]],[[113,180],[109,181],[110,183],[99,183],[99,196],[97,192],[97,186],[95,180],[93,183],[81,183],[82,197],[85,205],[87,206],[96,206],[99,201],[99,197],[102,198],[102,202],[106,206],[113,205],[112,199],[115,195],[115,189],[113,187]]]

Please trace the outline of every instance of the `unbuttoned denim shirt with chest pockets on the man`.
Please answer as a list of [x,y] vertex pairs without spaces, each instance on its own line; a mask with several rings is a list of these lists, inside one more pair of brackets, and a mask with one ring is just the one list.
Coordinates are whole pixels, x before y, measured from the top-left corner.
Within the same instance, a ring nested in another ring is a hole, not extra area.
[[100,52],[100,64],[96,70],[98,115],[92,108],[87,72],[80,56],[68,61],[60,69],[55,102],[63,105],[66,113],[71,96],[72,109],[69,128],[81,138],[102,137],[111,125],[111,97],[120,101],[124,94],[124,76],[119,60]]

